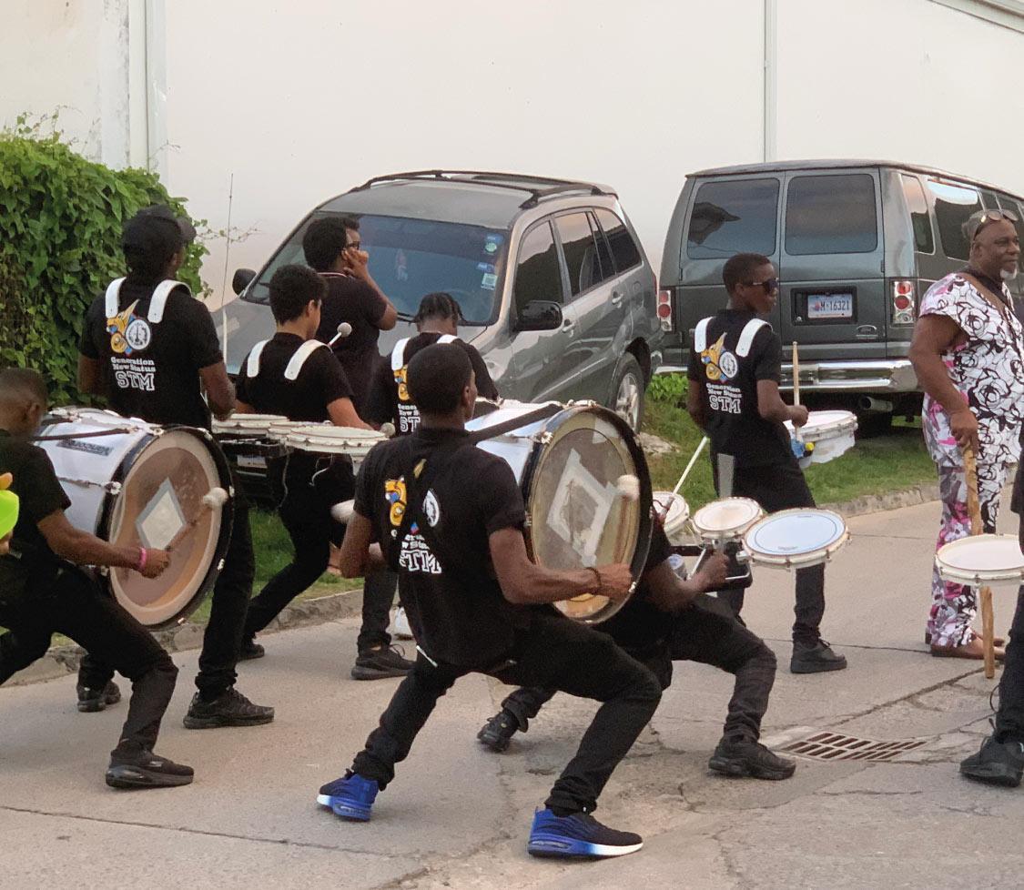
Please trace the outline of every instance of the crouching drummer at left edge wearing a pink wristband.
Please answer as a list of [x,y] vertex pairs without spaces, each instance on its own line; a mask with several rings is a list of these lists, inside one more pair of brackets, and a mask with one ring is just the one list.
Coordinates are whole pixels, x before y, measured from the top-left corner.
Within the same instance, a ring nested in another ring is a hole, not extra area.
[[[128,718],[111,752],[112,788],[188,785],[193,770],[153,753],[178,670],[150,632],[78,565],[133,568],[157,578],[163,550],[119,547],[72,526],[71,506],[46,453],[25,438],[46,413],[43,379],[33,371],[0,372],[0,474],[14,475],[20,498],[10,551],[0,555],[0,683],[42,658],[62,633],[132,681]],[[74,563],[74,564],[73,564]]]

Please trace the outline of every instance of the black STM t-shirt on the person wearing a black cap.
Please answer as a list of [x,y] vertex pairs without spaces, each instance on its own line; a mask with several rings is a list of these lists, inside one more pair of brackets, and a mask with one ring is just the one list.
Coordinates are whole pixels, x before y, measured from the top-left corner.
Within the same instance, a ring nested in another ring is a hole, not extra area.
[[79,352],[98,361],[111,407],[125,417],[209,429],[199,372],[223,361],[210,312],[182,285],[171,292],[163,320],[147,320],[159,282],[121,285],[118,313],[106,316],[105,297],[85,315]]

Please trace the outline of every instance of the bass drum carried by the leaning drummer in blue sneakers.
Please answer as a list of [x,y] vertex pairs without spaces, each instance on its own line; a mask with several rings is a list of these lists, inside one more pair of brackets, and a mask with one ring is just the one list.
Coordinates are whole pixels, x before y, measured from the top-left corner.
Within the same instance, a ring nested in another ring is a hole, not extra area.
[[[485,430],[541,407],[504,402],[466,428]],[[618,415],[593,404],[570,405],[477,448],[503,458],[519,480],[526,545],[536,562],[563,570],[626,563],[639,580],[650,546],[650,474],[635,433]],[[624,475],[639,479],[639,499],[620,493]],[[571,619],[597,624],[625,602],[585,594],[554,605]]]

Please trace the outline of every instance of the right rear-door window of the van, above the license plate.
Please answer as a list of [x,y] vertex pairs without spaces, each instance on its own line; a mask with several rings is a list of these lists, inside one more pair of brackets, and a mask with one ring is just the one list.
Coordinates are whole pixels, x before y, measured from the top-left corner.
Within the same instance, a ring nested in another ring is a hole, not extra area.
[[868,173],[796,176],[785,199],[791,256],[870,253],[879,246],[874,179]]

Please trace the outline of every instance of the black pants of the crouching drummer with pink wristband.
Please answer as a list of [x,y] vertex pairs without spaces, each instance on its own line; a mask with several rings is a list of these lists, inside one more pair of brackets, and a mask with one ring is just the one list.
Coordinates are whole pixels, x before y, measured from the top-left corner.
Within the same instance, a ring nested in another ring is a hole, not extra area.
[[0,683],[42,658],[54,633],[109,661],[132,682],[119,747],[152,750],[178,669],[150,632],[83,571],[45,569],[24,593],[0,591]]

